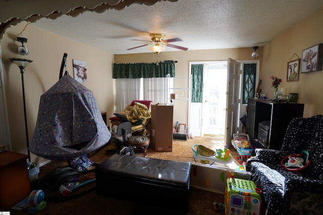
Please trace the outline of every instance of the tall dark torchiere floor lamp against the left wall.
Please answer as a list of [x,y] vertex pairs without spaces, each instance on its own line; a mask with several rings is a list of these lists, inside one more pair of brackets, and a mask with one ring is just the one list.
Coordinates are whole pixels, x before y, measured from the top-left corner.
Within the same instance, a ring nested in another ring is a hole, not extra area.
[[16,63],[20,68],[21,82],[22,82],[22,98],[24,102],[24,114],[25,114],[25,128],[26,128],[26,140],[27,140],[27,151],[28,151],[28,162],[30,162],[30,152],[29,152],[29,137],[28,137],[28,126],[27,126],[27,114],[26,114],[26,100],[25,100],[25,84],[24,84],[24,72],[25,67],[32,62],[29,59],[23,58],[9,58],[11,61]]

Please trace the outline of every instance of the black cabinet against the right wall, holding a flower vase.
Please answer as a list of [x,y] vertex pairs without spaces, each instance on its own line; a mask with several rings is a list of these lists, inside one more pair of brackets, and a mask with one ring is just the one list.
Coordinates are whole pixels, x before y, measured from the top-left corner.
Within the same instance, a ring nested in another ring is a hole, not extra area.
[[247,128],[251,144],[262,148],[255,139],[258,138],[259,123],[270,121],[267,149],[280,150],[289,122],[303,117],[304,104],[275,103],[267,100],[248,99]]

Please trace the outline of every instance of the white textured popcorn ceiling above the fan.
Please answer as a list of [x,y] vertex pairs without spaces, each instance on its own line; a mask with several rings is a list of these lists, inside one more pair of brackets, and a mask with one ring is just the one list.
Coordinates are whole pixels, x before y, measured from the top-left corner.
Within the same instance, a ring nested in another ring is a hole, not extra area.
[[148,46],[127,49],[147,43],[132,39],[149,41],[155,32],[165,34],[165,39],[181,38],[172,44],[189,50],[252,51],[252,46],[265,45],[322,6],[322,0],[160,0],[152,6],[132,4],[123,10],[41,18],[32,25],[112,54],[151,52]]

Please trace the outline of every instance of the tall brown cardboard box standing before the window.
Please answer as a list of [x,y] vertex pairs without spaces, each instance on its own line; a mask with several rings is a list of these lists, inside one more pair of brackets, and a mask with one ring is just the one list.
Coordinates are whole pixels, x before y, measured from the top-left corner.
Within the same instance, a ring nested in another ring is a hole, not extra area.
[[173,104],[151,105],[150,147],[156,152],[173,151]]

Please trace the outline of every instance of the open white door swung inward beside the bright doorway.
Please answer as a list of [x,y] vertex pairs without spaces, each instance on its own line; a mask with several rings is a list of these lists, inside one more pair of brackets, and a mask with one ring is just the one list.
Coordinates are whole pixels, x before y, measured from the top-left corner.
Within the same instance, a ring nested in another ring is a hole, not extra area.
[[241,63],[228,58],[228,83],[226,107],[226,145],[231,145],[233,134],[237,132],[240,110],[240,70]]

